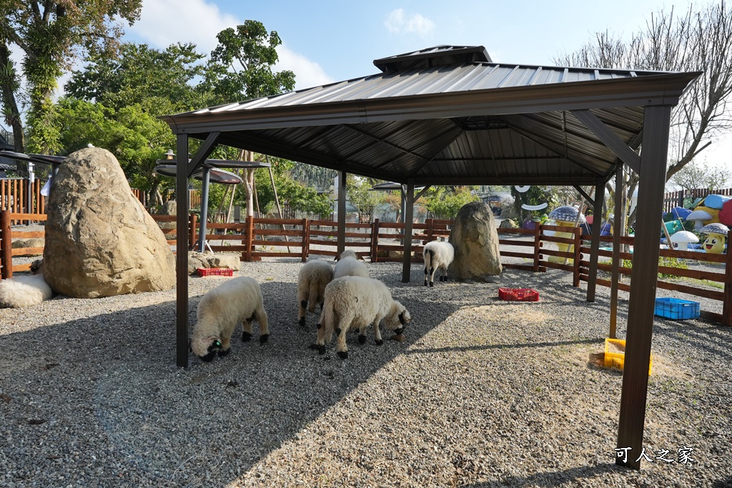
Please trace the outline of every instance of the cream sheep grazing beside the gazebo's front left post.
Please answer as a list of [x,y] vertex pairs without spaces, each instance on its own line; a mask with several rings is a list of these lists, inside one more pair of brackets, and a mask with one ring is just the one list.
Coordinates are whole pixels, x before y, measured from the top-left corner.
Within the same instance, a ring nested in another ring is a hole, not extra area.
[[242,341],[252,338],[252,320],[259,323],[259,342],[269,339],[267,312],[264,310],[259,283],[250,277],[229,279],[203,295],[198,302],[196,323],[190,349],[203,361],[209,362],[218,353],[231,352],[231,334],[242,323]]

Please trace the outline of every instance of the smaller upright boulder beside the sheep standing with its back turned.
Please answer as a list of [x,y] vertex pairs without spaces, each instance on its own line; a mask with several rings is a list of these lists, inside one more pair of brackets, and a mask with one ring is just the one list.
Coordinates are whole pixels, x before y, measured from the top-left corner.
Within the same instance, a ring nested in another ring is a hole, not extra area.
[[455,279],[485,281],[486,276],[501,274],[496,219],[485,203],[471,202],[458,210],[449,241],[455,247],[449,274]]

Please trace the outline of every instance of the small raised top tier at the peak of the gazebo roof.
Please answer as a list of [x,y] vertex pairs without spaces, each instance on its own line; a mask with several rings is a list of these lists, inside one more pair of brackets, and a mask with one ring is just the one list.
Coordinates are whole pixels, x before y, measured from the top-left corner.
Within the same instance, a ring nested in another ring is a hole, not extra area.
[[481,62],[493,62],[483,46],[451,45],[438,45],[433,48],[373,60],[374,66],[382,72],[422,70],[433,66]]

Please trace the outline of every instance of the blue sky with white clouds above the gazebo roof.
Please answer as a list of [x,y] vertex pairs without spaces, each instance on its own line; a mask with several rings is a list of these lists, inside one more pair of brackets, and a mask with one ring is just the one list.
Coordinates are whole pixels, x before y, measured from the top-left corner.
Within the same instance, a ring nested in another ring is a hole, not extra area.
[[[695,3],[695,10],[706,0]],[[689,1],[236,1],[144,0],[127,40],[165,48],[193,42],[201,53],[216,34],[259,20],[280,34],[276,69],[295,72],[296,89],[378,72],[373,60],[435,45],[482,45],[493,61],[555,64],[599,31],[630,37],[654,12],[685,12]],[[726,164],[732,137],[704,151],[702,161]]]

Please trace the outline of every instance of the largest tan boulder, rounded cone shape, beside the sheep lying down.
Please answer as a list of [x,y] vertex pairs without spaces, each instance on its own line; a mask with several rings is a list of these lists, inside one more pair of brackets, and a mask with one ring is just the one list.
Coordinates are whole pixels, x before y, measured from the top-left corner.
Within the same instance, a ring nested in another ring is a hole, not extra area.
[[53,290],[91,299],[173,288],[173,252],[111,152],[67,157],[47,208],[43,277]]

